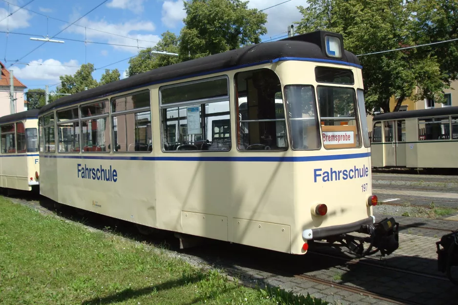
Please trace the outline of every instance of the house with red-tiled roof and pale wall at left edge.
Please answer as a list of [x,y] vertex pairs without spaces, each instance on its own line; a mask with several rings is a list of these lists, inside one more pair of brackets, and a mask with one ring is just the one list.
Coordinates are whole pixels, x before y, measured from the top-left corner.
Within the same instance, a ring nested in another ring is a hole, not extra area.
[[[10,72],[6,69],[3,62],[0,61],[0,117],[11,114],[10,111]],[[21,81],[14,77],[14,104],[15,112],[27,110],[27,104],[24,100],[24,90],[27,88]]]

